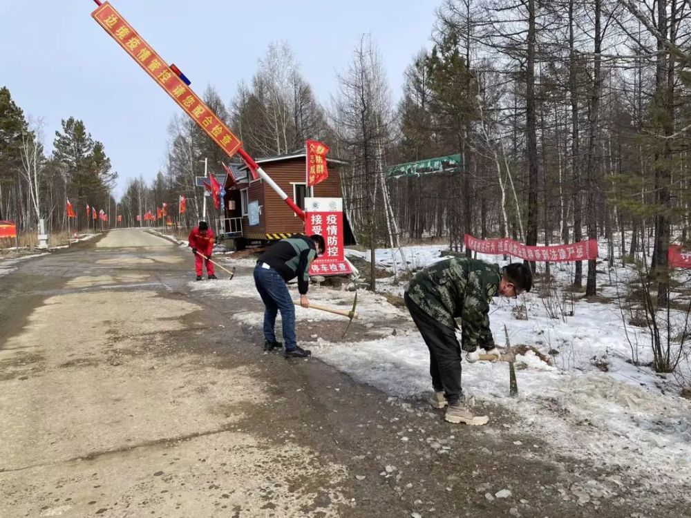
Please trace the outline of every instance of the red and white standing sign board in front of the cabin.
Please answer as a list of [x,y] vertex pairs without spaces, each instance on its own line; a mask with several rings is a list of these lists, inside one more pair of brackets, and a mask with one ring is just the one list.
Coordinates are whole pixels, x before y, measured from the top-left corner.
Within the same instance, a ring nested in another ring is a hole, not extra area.
[[305,233],[307,236],[319,234],[326,244],[323,256],[312,261],[310,275],[351,274],[343,254],[342,198],[305,198],[305,207]]

